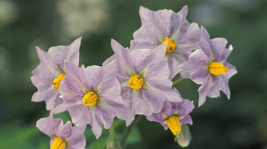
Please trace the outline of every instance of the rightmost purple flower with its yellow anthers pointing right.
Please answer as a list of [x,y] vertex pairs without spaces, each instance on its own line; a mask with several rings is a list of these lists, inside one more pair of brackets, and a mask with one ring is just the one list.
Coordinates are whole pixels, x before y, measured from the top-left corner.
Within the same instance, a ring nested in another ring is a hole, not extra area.
[[180,66],[190,72],[190,78],[194,82],[202,84],[198,89],[198,106],[206,101],[206,96],[220,96],[220,90],[230,99],[228,80],[237,71],[236,67],[225,61],[233,50],[232,45],[229,49],[225,48],[226,44],[225,38],[209,39],[209,33],[201,27],[201,40],[197,42],[200,49],[194,51],[189,60]]

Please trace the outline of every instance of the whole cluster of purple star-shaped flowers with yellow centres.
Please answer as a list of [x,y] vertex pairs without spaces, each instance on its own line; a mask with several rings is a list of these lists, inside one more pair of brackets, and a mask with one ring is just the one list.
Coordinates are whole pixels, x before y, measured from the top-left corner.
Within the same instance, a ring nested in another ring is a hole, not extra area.
[[[147,116],[170,129],[181,146],[187,146],[193,124],[189,113],[194,105],[183,99],[171,79],[180,73],[197,84],[201,106],[206,96],[215,98],[222,90],[230,98],[228,80],[237,73],[225,60],[232,51],[224,38],[209,39],[204,27],[186,20],[187,6],[151,11],[140,7],[142,26],[134,32],[130,49],[112,40],[114,55],[103,66],[78,67],[81,38],[70,46],[56,46],[48,52],[36,47],[40,64],[32,71],[38,88],[32,101],[45,101],[50,116],[36,126],[51,137],[51,149],[85,148],[86,124],[96,138],[117,116],[131,124],[136,114]],[[63,125],[53,114],[69,111],[71,121]]]

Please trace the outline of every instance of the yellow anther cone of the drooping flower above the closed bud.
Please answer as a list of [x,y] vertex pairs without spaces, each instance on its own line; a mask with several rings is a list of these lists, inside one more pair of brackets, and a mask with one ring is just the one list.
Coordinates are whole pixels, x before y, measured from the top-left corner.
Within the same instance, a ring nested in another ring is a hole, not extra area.
[[181,131],[181,124],[180,124],[180,119],[178,116],[170,116],[169,119],[167,119],[167,125],[171,132],[174,135],[177,135]]

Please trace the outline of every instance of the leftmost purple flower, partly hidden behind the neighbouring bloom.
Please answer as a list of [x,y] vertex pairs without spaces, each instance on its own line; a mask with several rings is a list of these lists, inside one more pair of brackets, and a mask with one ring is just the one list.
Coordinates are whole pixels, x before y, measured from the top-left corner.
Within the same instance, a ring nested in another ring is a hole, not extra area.
[[66,74],[64,60],[78,66],[80,43],[81,38],[78,38],[69,46],[51,47],[48,52],[36,47],[40,64],[32,71],[34,76],[31,81],[38,91],[34,93],[31,101],[45,101],[47,110],[62,103],[57,89]]

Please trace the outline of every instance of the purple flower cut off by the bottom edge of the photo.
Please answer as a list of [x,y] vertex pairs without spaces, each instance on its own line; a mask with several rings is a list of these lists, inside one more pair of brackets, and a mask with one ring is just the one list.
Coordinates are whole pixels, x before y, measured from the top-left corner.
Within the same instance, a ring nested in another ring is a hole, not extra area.
[[53,119],[53,107],[50,110],[50,115],[46,118],[39,119],[36,127],[48,135],[50,147],[64,149],[84,149],[86,140],[83,132],[86,125],[72,127],[71,121],[63,125],[60,118]]

